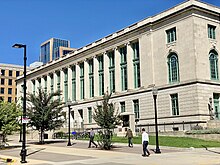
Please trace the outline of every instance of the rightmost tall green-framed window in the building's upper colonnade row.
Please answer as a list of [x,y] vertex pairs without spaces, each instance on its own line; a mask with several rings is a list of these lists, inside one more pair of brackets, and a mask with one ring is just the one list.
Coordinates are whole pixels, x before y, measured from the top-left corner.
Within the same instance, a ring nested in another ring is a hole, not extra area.
[[132,44],[133,49],[133,66],[134,66],[134,87],[141,86],[140,80],[140,59],[139,59],[139,42]]

